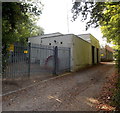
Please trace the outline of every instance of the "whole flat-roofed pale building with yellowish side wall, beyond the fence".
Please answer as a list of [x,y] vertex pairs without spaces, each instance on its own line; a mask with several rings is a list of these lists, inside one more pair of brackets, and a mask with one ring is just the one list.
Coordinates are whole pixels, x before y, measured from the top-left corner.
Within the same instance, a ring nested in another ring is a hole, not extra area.
[[[28,41],[41,46],[47,45],[49,47],[70,48],[70,53],[68,53],[69,55],[66,54],[66,57],[69,56],[71,71],[78,71],[81,68],[100,62],[99,41],[91,34],[74,35],[52,33],[30,37]],[[58,54],[58,58],[62,56],[65,58],[64,50]],[[32,62],[34,62],[34,60]],[[62,60],[60,62],[62,62]]]

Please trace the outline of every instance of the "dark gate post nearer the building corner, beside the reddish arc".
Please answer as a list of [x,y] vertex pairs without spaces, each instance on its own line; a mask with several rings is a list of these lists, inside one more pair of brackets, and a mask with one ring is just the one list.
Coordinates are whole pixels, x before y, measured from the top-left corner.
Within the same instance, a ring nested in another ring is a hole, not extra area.
[[53,69],[53,74],[57,75],[58,74],[58,47],[55,46],[54,48],[54,69]]

